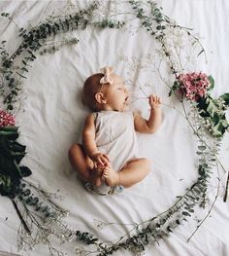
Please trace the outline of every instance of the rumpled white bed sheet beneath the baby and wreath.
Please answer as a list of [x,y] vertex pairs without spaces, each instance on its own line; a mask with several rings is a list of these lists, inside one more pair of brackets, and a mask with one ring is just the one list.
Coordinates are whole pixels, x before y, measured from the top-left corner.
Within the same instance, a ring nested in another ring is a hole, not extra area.
[[[84,5],[84,1],[72,3],[76,7]],[[58,8],[61,12],[65,4],[64,1],[1,1],[0,12],[14,13],[18,26],[26,27],[29,23],[35,25],[44,20],[53,9]],[[200,58],[196,70],[213,75],[216,85],[213,94],[219,96],[229,91],[229,2],[162,0],[160,4],[165,14],[175,18],[183,26],[193,27],[196,33],[204,37],[202,43],[209,62],[205,65],[203,58]],[[8,40],[10,51],[14,51],[19,44],[15,40],[16,26],[9,25],[3,18],[0,20],[1,40]],[[131,35],[129,31],[123,30],[97,31],[88,28],[73,34],[80,39],[77,46],[65,46],[54,55],[39,56],[30,69],[28,79],[24,81],[24,100],[16,116],[16,124],[21,132],[20,141],[27,146],[28,152],[23,164],[33,170],[33,175],[29,177],[31,181],[41,184],[50,192],[60,190],[60,194],[64,196],[60,204],[70,210],[67,223],[75,229],[97,234],[101,239],[112,240],[119,238],[127,228],[114,225],[98,231],[93,220],[138,223],[167,209],[175,201],[175,197],[181,195],[197,177],[196,142],[191,129],[178,112],[163,106],[163,123],[158,132],[138,136],[141,152],[151,161],[152,171],[147,179],[114,197],[98,197],[87,193],[72,171],[67,153],[71,144],[78,140],[87,114],[80,102],[79,92],[88,75],[99,71],[100,67],[113,65],[116,73],[131,78],[134,84],[153,85],[152,92],[160,95],[164,103],[177,107],[179,103],[167,97],[168,89],[152,72],[153,62],[150,62],[150,58],[153,60],[155,43],[146,32]],[[166,73],[163,76],[166,78]],[[138,100],[135,103],[135,107],[141,108],[143,115],[147,117],[147,101]],[[227,133],[219,156],[227,169],[228,142]],[[226,175],[211,217],[189,243],[186,239],[194,231],[197,225],[195,221],[178,228],[170,238],[161,240],[159,246],[148,246],[146,255],[229,255],[229,200],[226,203],[222,201],[225,178]],[[215,193],[215,187],[210,186],[211,201],[206,210],[195,213],[198,218],[207,214]],[[11,201],[2,197],[0,215],[0,251],[18,253],[16,231],[19,220]],[[63,245],[61,250],[66,255],[74,255],[76,246],[76,243]],[[32,252],[19,253],[48,255],[48,248],[40,245]],[[132,254],[118,251],[115,255]]]

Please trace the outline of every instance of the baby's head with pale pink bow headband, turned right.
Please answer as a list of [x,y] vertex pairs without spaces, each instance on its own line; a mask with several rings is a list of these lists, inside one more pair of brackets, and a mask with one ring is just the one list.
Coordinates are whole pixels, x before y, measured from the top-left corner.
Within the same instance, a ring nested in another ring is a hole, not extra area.
[[121,77],[105,67],[102,73],[88,77],[82,89],[82,100],[92,111],[123,111],[127,106],[128,92]]

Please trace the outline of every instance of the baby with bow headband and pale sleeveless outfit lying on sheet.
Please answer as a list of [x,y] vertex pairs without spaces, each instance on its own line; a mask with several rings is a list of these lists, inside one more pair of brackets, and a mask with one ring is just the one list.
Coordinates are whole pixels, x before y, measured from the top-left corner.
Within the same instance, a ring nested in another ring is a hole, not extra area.
[[131,187],[150,170],[149,161],[138,158],[136,131],[154,133],[160,127],[160,98],[149,95],[148,120],[127,111],[128,99],[124,81],[112,67],[84,82],[82,100],[93,113],[85,119],[82,145],[70,148],[69,159],[87,188],[99,194]]

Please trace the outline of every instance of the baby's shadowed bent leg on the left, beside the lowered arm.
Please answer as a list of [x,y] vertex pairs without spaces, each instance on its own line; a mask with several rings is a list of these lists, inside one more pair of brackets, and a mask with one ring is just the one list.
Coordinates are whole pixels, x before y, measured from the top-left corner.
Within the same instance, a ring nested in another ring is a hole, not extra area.
[[69,161],[82,180],[98,187],[101,185],[102,171],[94,168],[93,162],[86,156],[81,144],[69,149]]

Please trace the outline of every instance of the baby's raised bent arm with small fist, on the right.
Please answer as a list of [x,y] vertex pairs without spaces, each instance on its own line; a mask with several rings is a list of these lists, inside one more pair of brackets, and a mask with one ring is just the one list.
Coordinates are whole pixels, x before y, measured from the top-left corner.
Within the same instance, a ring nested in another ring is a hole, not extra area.
[[160,98],[155,95],[149,95],[148,103],[151,107],[148,120],[134,113],[134,125],[137,131],[143,133],[154,133],[161,125]]

